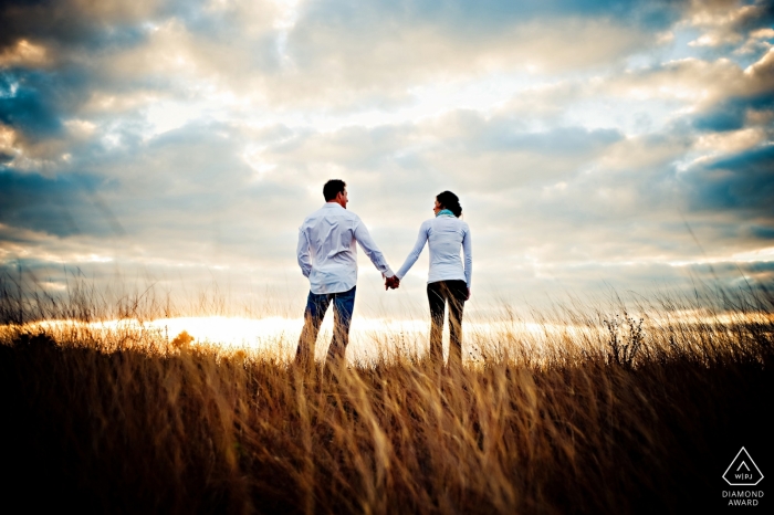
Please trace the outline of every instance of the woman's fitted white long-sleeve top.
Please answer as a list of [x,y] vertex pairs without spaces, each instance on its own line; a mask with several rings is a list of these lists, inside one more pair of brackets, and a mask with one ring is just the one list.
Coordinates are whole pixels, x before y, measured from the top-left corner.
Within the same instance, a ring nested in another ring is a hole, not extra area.
[[[402,280],[422,253],[425,243],[430,246],[430,273],[427,282],[464,281],[471,285],[473,255],[471,251],[470,228],[459,218],[441,214],[422,222],[419,237],[406,262],[395,274]],[[460,248],[464,252],[464,266],[460,259]]]

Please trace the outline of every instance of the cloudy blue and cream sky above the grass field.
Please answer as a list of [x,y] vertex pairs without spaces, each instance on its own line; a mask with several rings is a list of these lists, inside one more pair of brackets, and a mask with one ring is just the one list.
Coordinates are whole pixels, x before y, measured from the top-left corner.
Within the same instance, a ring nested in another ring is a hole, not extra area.
[[[771,291],[773,27],[766,1],[2,1],[0,274],[300,317],[297,228],[338,178],[394,270],[460,197],[468,309]],[[395,292],[358,260],[356,316],[425,315],[427,249]]]

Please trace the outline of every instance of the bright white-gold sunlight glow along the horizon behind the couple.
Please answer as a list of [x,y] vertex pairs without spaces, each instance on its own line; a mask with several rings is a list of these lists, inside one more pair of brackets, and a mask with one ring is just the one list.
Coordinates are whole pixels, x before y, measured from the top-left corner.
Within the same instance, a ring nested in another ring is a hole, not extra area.
[[[600,314],[597,314],[600,315]],[[620,316],[620,314],[619,314]],[[640,317],[647,320],[646,337],[649,330],[657,330],[661,326],[686,325],[722,325],[733,326],[742,320],[774,320],[772,313],[712,313],[707,309],[681,309],[673,312],[629,313],[634,319]],[[607,317],[615,317],[614,313]],[[608,337],[607,328],[602,323],[603,318],[588,319],[585,324],[554,322],[529,322],[522,318],[496,318],[492,320],[474,319],[463,324],[463,345],[468,350],[480,350],[478,345],[485,341],[489,345],[506,346],[527,345],[535,350],[535,344],[540,347],[552,339],[600,338],[604,343]],[[25,324],[28,330],[45,330],[59,338],[67,339],[67,335],[83,330],[93,333],[97,338],[118,337],[121,335],[138,335],[149,332],[153,337],[171,341],[182,332],[188,333],[194,345],[216,346],[224,351],[248,350],[259,354],[268,354],[282,359],[291,359],[295,353],[303,319],[265,317],[171,317],[157,318],[140,323],[135,319],[113,319],[84,323],[80,320],[44,320]],[[0,329],[3,327],[0,326]],[[444,327],[444,347],[449,345],[448,324]],[[327,314],[320,330],[316,343],[316,356],[318,360],[325,358],[333,330],[333,315]],[[393,353],[419,353],[427,351],[429,322],[419,319],[386,319],[365,318],[355,316],[352,323],[347,358],[351,361],[370,360],[380,354],[389,356]]]

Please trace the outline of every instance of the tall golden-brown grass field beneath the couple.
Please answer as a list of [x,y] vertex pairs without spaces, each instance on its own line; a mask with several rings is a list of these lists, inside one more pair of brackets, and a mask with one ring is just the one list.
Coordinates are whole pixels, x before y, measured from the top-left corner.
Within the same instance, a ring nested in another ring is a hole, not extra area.
[[[682,513],[724,506],[741,445],[774,470],[771,297],[576,304],[543,334],[511,313],[466,333],[461,370],[383,345],[332,378],[143,317],[42,332],[28,322],[53,311],[9,291],[3,486],[25,512]],[[88,319],[87,301],[57,317]]]

